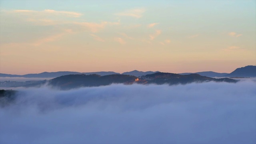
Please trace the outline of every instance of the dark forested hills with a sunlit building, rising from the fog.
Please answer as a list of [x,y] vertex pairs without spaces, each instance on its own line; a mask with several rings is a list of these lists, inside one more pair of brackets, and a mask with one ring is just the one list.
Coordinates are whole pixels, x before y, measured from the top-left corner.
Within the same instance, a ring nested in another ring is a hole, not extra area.
[[188,84],[192,82],[237,82],[230,78],[209,78],[200,76],[199,74],[180,75],[172,73],[157,72],[148,74],[146,76],[136,77],[124,74],[112,74],[107,76],[100,76],[97,74],[84,75],[66,75],[54,78],[48,81],[50,86],[68,90],[72,88],[88,87],[88,86],[107,86],[110,84]]

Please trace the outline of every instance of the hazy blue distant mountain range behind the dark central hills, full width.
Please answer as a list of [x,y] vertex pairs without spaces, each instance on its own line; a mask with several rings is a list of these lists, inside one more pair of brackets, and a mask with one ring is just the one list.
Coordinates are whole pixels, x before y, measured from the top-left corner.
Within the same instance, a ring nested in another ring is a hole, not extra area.
[[[156,71],[159,72],[159,71]],[[134,70],[131,72],[124,72],[122,74],[131,75],[131,76],[145,76],[147,74],[154,74],[156,72],[148,71],[142,72]],[[106,76],[111,74],[120,74],[117,72],[42,72],[40,74],[25,74],[25,75],[13,75],[13,74],[1,74],[0,77],[24,77],[24,78],[56,78],[59,76],[69,75],[69,74],[98,74],[100,76]],[[180,73],[180,75],[188,74],[199,74],[201,76],[207,77],[256,77],[256,66],[245,66],[242,68],[237,68],[230,74],[228,73],[218,73],[218,72],[196,72],[196,73]]]

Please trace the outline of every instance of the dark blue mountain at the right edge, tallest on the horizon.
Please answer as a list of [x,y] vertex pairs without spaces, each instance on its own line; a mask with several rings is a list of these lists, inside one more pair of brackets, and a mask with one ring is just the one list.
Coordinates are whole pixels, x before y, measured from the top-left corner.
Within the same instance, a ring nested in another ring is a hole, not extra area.
[[256,66],[245,66],[237,68],[230,74],[226,74],[226,77],[256,77]]

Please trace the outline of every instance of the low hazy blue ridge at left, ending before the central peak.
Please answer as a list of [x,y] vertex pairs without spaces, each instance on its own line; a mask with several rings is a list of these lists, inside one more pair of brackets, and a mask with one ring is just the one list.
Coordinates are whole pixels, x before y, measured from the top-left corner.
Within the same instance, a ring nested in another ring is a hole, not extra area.
[[24,74],[24,75],[12,75],[12,74],[0,74],[0,77],[24,77],[24,78],[56,78],[59,76],[65,76],[68,74],[98,74],[100,76],[106,76],[110,74],[120,74],[116,72],[42,72],[40,74]]

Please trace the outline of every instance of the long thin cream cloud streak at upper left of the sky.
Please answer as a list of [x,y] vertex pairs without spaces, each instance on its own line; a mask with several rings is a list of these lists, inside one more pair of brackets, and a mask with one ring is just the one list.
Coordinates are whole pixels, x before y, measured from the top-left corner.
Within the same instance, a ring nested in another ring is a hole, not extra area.
[[69,12],[69,11],[57,11],[57,10],[43,10],[43,11],[35,11],[35,10],[14,10],[13,12],[28,14],[28,13],[41,13],[41,14],[55,14],[55,15],[65,15],[70,17],[80,17],[82,14],[78,12]]

